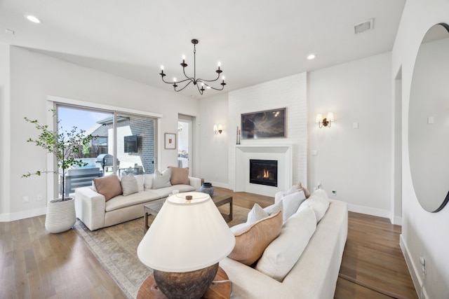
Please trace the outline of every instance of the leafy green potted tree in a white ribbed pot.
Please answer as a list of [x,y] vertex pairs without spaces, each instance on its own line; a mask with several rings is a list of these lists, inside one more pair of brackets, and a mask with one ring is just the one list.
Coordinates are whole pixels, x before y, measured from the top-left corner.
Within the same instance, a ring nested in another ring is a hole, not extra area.
[[[55,110],[50,111],[55,117]],[[55,172],[38,170],[34,173],[23,174],[22,177],[61,172],[62,197],[48,202],[45,227],[48,232],[65,232],[72,228],[76,221],[74,198],[65,197],[65,174],[69,168],[88,165],[79,158],[83,155],[83,149],[91,144],[94,137],[92,134],[86,134],[85,130],[78,130],[77,127],[72,127],[72,130],[63,130],[60,120],[58,120],[57,130],[48,130],[48,125],[41,125],[39,120],[25,117],[25,121],[34,124],[36,130],[40,132],[36,139],[29,138],[27,142],[32,142],[48,153],[52,153],[56,158],[58,170]]]

